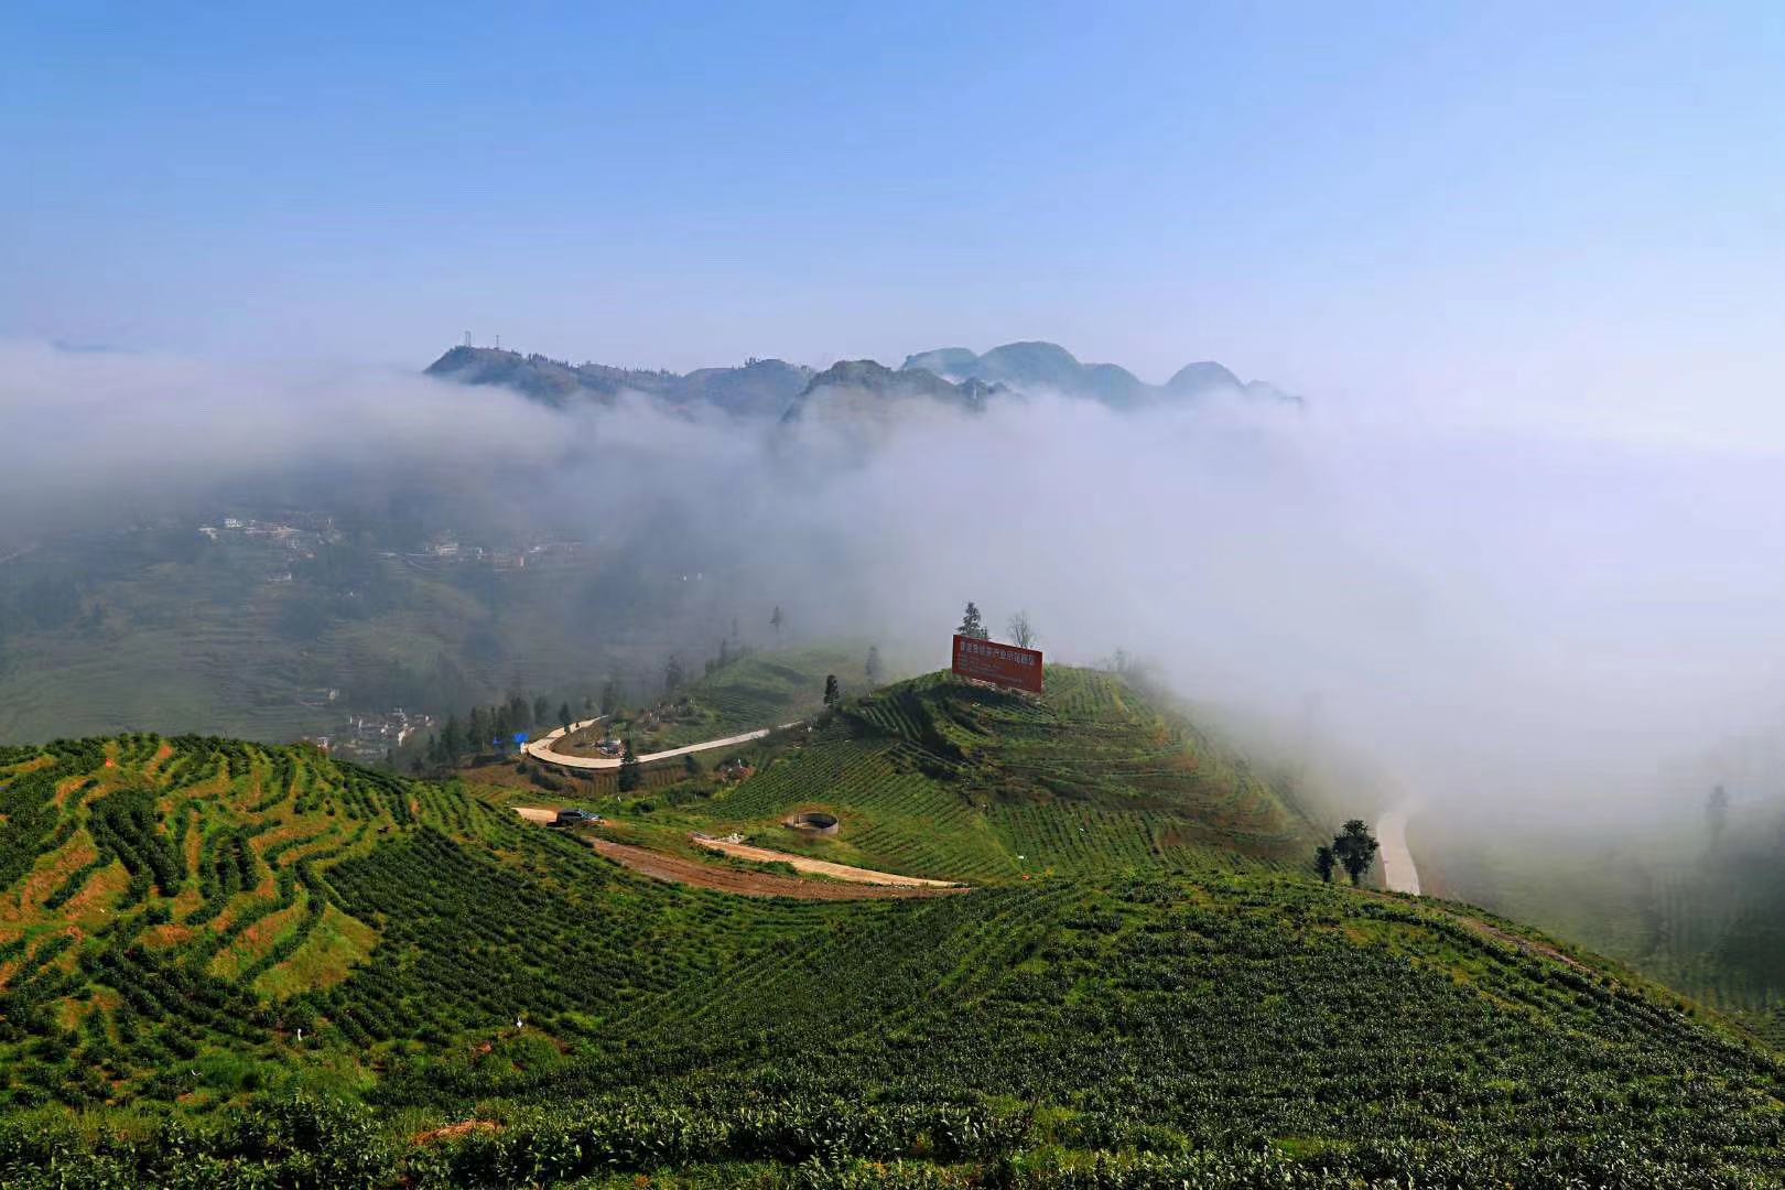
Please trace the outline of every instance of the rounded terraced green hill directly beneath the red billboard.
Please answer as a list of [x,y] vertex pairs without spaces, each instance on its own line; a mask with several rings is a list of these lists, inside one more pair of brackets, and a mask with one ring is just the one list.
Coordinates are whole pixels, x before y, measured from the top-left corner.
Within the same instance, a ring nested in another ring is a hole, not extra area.
[[[1028,699],[930,674],[850,699],[677,821],[909,876],[1299,865],[1319,831],[1244,758],[1130,682],[1053,665]],[[818,810],[834,839],[780,822]]]

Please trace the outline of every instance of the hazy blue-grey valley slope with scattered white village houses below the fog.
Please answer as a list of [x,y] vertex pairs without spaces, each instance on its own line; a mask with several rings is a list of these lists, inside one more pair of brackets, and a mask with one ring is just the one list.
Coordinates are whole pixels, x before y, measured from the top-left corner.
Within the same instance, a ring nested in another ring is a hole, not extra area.
[[616,676],[641,698],[666,657],[698,665],[735,616],[716,582],[684,582],[673,546],[491,532],[473,551],[484,539],[430,546],[391,516],[300,541],[253,530],[68,535],[0,567],[0,740],[287,740],[393,707],[444,717],[518,678],[553,705]]

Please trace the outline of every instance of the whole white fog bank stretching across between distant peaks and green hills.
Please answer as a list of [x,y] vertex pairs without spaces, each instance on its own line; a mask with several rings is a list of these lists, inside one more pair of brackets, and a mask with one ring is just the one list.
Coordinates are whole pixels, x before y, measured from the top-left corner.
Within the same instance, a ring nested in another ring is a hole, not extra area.
[[352,476],[487,523],[630,535],[709,564],[746,610],[782,603],[807,635],[930,665],[967,599],[994,635],[1025,608],[1050,658],[1125,649],[1369,808],[1698,806],[1706,756],[1785,710],[1785,473],[1751,444],[1319,394],[1132,414],[1028,394],[775,426],[39,343],[0,344],[0,555]]

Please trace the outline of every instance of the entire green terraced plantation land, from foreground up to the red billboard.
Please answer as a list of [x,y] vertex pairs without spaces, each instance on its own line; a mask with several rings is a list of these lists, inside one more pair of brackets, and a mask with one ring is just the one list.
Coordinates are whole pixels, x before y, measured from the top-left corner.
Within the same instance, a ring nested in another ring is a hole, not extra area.
[[4,751],[0,1181],[1778,1178],[1778,1054],[1512,922],[1317,883],[1242,756],[1121,676],[1048,682],[894,683],[728,776],[584,790],[637,846],[793,847],[778,815],[830,806],[828,855],[973,883],[935,899],[652,880],[478,773]]

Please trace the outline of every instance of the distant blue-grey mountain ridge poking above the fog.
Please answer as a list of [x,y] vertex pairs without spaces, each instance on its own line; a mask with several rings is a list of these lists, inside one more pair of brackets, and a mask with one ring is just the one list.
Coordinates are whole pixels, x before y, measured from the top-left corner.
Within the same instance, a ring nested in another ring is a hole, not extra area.
[[925,398],[969,410],[1016,393],[1060,393],[1125,410],[1210,396],[1301,403],[1273,384],[1244,382],[1214,360],[1187,364],[1166,384],[1153,385],[1116,364],[1080,362],[1057,343],[1007,343],[984,355],[939,348],[909,355],[896,369],[876,360],[843,360],[819,373],[778,359],[751,359],[737,368],[702,368],[687,375],[457,346],[434,360],[427,375],[503,385],[553,407],[580,400],[609,403],[623,391],[635,391],[673,405],[709,403],[735,416],[784,423],[798,421],[814,403],[832,401],[844,391],[875,405]]

